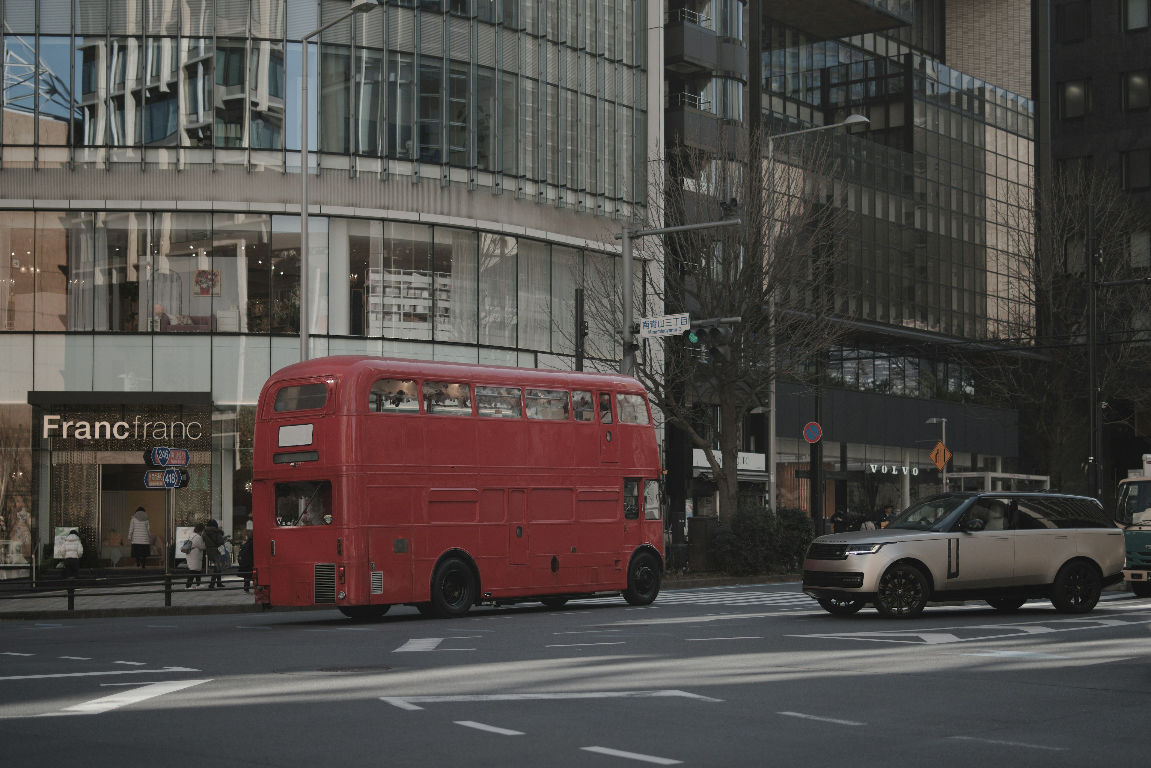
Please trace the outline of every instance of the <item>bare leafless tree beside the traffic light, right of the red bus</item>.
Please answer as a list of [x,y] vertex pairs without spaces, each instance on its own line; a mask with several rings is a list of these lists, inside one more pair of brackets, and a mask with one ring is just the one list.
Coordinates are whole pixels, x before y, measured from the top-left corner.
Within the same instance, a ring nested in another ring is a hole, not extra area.
[[[730,356],[688,349],[679,336],[648,340],[635,377],[665,423],[707,456],[721,511],[733,511],[745,417],[767,404],[775,378],[802,374],[841,333],[825,320],[846,304],[840,267],[849,214],[825,138],[777,142],[775,164],[765,158],[763,136],[730,131],[721,139],[716,152],[684,149],[650,164],[648,185],[661,196],[633,227],[732,215],[742,223],[637,241],[637,258],[648,266],[637,271],[635,306],[642,307],[638,314],[741,318]],[[618,279],[603,264],[585,271],[593,340],[615,336],[622,325]]]

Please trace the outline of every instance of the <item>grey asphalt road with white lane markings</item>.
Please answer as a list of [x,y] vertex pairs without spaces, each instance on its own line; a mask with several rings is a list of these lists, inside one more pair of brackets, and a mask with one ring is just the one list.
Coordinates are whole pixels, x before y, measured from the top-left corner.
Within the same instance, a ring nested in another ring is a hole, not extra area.
[[5,766],[1135,765],[1151,600],[832,617],[798,585],[0,622]]

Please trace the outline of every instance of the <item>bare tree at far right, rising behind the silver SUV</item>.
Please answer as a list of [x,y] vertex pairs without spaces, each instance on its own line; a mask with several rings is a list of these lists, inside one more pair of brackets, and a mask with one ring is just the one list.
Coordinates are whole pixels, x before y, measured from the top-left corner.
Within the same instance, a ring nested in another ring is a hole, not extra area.
[[[1151,275],[1148,215],[1114,174],[1103,172],[1055,174],[1034,199],[1029,190],[1019,195],[1027,198],[999,208],[1006,249],[989,264],[988,320],[990,336],[1021,351],[986,356],[978,367],[982,389],[994,404],[1020,411],[1024,439],[1034,441],[1031,453],[1053,487],[1085,491],[1089,211],[1103,256],[1099,281]],[[1107,421],[1130,421],[1151,408],[1148,298],[1143,287],[1098,295],[1100,400],[1123,404],[1102,413]]]

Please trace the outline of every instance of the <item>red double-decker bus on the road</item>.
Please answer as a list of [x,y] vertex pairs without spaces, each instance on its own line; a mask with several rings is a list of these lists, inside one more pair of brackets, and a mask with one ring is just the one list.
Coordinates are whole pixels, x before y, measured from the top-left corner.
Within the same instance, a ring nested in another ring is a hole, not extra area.
[[264,386],[257,601],[463,616],[660,592],[660,458],[622,375],[325,357]]

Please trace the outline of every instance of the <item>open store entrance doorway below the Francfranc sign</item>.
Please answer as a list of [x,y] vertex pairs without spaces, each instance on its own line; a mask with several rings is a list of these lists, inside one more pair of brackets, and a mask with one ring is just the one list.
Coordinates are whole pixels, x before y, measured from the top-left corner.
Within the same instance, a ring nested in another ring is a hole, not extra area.
[[100,565],[132,568],[132,545],[128,526],[140,507],[151,530],[148,568],[163,568],[165,491],[144,488],[144,464],[100,464]]

